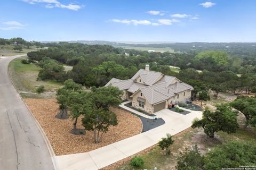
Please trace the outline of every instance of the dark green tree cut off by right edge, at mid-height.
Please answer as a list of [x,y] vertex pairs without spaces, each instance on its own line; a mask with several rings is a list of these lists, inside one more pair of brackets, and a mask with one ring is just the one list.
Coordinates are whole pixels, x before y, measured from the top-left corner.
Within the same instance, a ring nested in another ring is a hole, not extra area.
[[237,97],[234,101],[230,103],[232,107],[237,109],[237,111],[240,111],[245,116],[246,124],[245,126],[248,126],[249,124],[252,126],[256,126],[255,123],[252,122],[252,119],[254,120],[256,118],[256,98],[255,97],[247,97],[247,96],[241,96]]

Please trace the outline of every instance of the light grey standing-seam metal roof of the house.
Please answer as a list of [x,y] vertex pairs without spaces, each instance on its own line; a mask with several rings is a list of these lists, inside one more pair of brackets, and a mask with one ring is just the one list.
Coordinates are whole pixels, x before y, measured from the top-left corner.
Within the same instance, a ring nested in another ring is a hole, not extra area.
[[[139,76],[145,82],[145,84],[134,82],[134,80],[137,79]],[[159,79],[159,77],[162,78]],[[157,79],[159,80],[155,82]],[[115,86],[118,87],[120,90],[127,90],[133,94],[141,91],[142,95],[145,96],[147,101],[150,104],[154,105],[176,96],[179,92],[194,90],[192,86],[181,81],[173,83],[173,80],[175,79],[177,78],[169,75],[163,75],[159,72],[140,69],[132,77],[132,79],[119,80],[113,78],[106,84],[106,86]]]

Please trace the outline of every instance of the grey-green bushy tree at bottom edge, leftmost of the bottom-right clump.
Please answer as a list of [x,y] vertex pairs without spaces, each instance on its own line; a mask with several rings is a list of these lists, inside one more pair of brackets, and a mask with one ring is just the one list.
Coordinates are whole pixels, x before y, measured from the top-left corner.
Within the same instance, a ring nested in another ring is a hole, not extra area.
[[192,148],[186,148],[180,152],[177,158],[177,170],[201,170],[204,168],[205,157],[201,155],[197,145]]

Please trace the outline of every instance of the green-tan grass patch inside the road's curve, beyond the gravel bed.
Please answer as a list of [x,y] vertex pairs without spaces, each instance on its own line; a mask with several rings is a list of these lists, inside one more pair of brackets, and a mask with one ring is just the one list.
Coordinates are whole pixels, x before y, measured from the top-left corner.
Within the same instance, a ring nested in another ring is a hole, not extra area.
[[23,97],[42,98],[43,95],[35,94],[36,88],[45,87],[45,92],[51,96],[52,91],[56,91],[62,84],[56,81],[37,81],[37,75],[40,70],[35,64],[22,64],[22,58],[16,58],[9,64],[10,77],[15,87]]

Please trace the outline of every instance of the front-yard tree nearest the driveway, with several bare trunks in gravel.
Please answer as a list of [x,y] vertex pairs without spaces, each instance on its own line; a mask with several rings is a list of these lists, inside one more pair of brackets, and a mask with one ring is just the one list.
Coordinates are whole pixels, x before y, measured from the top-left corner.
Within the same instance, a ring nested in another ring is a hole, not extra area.
[[100,143],[102,135],[108,131],[110,125],[117,125],[116,115],[105,109],[94,108],[82,118],[82,125],[86,130],[94,131],[94,142]]

